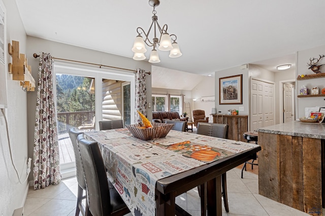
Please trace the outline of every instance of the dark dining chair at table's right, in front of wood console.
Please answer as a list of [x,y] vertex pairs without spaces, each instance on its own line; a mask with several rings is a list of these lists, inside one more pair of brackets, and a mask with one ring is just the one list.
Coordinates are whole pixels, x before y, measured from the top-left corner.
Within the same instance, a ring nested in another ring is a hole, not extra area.
[[[228,137],[228,124],[198,122],[197,134],[226,139]],[[201,187],[198,186],[201,203],[204,197],[201,196]],[[221,194],[223,197],[224,209],[229,212],[226,173],[221,174]]]

